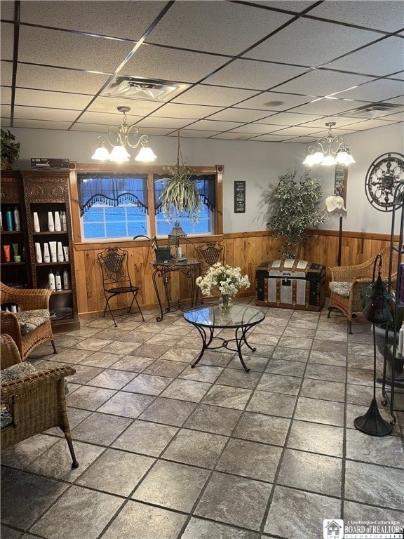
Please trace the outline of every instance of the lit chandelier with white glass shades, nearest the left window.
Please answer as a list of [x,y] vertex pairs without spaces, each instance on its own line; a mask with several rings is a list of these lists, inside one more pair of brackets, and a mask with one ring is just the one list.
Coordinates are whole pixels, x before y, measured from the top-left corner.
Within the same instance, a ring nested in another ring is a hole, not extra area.
[[[132,144],[129,140],[129,135],[136,136],[139,133],[139,129],[134,125],[128,126],[126,123],[126,112],[130,111],[130,107],[117,107],[119,112],[123,113],[123,122],[117,126],[109,126],[108,133],[111,135],[116,135],[116,141],[110,142],[109,139],[105,136],[97,137],[98,147],[95,150],[91,159],[98,159],[100,161],[114,161],[114,163],[125,163],[129,161],[130,154],[126,149],[126,146],[130,148],[137,148],[140,144],[142,148],[140,152],[135,157],[135,161],[154,161],[156,155],[154,155],[152,148],[148,146],[149,138],[147,135],[141,135],[140,139],[137,140],[136,144]],[[106,144],[112,146],[112,152],[109,153]]]

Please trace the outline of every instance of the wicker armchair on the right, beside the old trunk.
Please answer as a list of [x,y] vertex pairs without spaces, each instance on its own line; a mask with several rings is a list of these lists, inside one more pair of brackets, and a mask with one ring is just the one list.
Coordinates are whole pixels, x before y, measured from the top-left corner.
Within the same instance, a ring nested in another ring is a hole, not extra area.
[[[382,265],[382,279],[385,283],[389,280],[389,255],[390,248],[380,251],[384,257]],[[354,266],[330,267],[330,305],[328,307],[328,318],[332,310],[339,310],[348,319],[348,331],[352,333],[352,318],[356,312],[362,312],[361,290],[365,284],[372,282],[373,267],[377,254],[362,264]],[[393,262],[391,267],[396,268],[398,264],[398,254],[393,251]],[[376,275],[377,277],[377,275]],[[396,277],[396,272],[391,275],[391,279]]]

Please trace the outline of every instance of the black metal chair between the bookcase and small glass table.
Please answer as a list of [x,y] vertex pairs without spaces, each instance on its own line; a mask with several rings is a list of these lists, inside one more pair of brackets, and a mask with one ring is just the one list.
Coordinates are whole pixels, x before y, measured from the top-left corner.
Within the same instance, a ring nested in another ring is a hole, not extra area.
[[133,302],[136,302],[137,309],[144,321],[143,313],[136,297],[139,292],[139,287],[132,284],[128,271],[128,251],[118,247],[107,248],[105,251],[102,251],[102,253],[98,253],[98,262],[100,262],[102,270],[102,287],[104,289],[106,300],[105,310],[102,317],[105,317],[105,313],[108,309],[111,313],[112,320],[114,321],[114,326],[117,327],[114,313],[112,312],[111,305],[109,305],[109,300],[115,298],[117,295],[129,293],[132,294],[133,297],[130,302],[128,313],[132,309]]

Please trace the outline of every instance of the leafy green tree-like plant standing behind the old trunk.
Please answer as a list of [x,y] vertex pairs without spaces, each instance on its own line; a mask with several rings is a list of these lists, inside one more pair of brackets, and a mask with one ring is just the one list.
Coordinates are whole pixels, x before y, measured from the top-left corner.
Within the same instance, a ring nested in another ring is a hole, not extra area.
[[274,238],[284,237],[281,256],[299,258],[302,246],[309,238],[308,228],[324,222],[318,207],[322,196],[321,182],[305,173],[297,182],[297,168],[279,176],[276,187],[264,193],[270,215],[267,229]]

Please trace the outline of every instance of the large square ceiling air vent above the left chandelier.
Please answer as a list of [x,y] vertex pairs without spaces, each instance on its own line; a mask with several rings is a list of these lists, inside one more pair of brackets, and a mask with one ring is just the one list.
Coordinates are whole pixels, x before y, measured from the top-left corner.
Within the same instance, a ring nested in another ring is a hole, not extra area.
[[180,82],[139,79],[135,76],[116,76],[102,92],[102,95],[107,95],[110,98],[167,101],[189,86],[190,84]]

